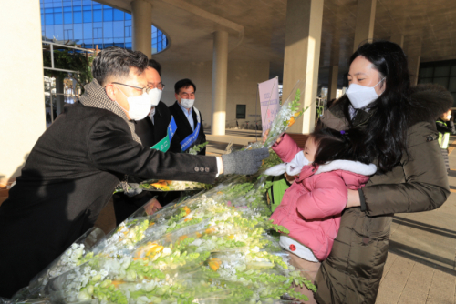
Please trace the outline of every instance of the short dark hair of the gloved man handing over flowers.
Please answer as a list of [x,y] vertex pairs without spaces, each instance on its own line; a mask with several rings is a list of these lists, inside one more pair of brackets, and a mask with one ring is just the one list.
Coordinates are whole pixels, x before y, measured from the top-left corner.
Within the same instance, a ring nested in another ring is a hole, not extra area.
[[105,86],[109,76],[127,77],[135,67],[140,75],[148,66],[149,59],[139,51],[110,46],[98,53],[92,63],[92,75],[100,86]]

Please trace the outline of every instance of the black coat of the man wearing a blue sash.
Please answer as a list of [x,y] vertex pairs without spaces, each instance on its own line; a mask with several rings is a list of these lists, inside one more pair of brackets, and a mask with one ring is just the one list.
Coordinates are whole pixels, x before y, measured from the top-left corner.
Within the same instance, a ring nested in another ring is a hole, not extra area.
[[[181,106],[179,106],[179,103],[177,101],[174,103],[174,105],[170,106],[169,109],[170,109],[171,115],[176,120],[176,125],[177,125],[176,134],[181,140],[184,140],[186,137],[188,137],[189,135],[191,135],[193,133],[189,120],[187,119],[187,117],[185,117],[185,114],[183,114]],[[193,117],[193,123],[194,123],[193,127],[196,127],[196,125],[198,124],[198,121],[196,120],[196,113],[195,113],[194,108],[192,111],[192,117]],[[201,145],[206,142],[206,135],[204,134],[204,127],[202,127],[201,112],[200,112],[200,120],[201,120],[200,133],[198,135],[198,138],[196,138],[194,146]],[[206,155],[206,148],[205,147],[202,148],[202,150],[198,154]]]

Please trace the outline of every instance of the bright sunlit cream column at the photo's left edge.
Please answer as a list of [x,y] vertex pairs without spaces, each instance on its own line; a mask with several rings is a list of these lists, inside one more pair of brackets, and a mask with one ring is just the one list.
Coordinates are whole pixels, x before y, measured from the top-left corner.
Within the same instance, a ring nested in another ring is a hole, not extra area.
[[10,46],[26,46],[0,48],[0,188],[20,175],[36,139],[46,130],[39,9],[36,0],[0,3],[0,28],[8,29],[2,39]]

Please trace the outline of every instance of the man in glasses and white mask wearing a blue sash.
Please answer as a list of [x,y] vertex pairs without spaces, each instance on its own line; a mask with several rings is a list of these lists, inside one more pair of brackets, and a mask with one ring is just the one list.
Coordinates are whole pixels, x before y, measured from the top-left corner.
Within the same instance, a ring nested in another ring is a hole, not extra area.
[[[206,142],[206,135],[202,126],[202,115],[193,106],[195,92],[196,86],[190,79],[179,80],[174,85],[174,93],[177,100],[174,105],[170,106],[170,112],[176,120],[176,134],[181,139],[183,152]],[[202,148],[198,154],[206,155],[206,148]]]

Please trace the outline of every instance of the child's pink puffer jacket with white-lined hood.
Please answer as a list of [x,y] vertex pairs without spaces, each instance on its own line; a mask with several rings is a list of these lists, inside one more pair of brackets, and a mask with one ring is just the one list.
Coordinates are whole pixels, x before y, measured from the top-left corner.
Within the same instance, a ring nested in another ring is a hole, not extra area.
[[[284,162],[302,151],[286,134],[273,149]],[[350,160],[305,166],[286,190],[271,219],[290,230],[290,238],[310,248],[320,261],[324,260],[331,252],[341,213],[347,206],[347,189],[363,187],[376,170],[373,164]]]

